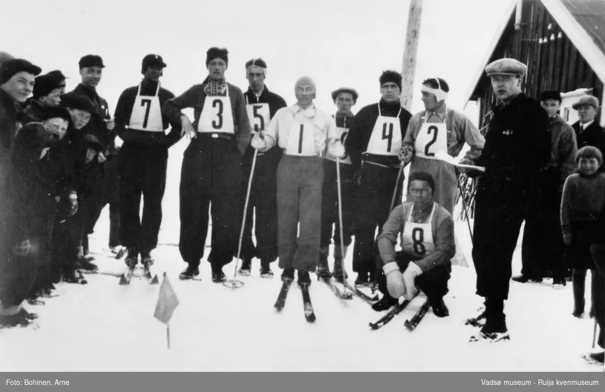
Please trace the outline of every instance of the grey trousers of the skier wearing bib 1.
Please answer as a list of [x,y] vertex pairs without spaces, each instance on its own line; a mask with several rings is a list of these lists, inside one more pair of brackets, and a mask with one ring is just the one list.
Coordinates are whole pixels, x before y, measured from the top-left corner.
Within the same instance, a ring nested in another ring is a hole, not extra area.
[[279,266],[311,272],[319,262],[321,187],[320,157],[284,155],[277,168]]

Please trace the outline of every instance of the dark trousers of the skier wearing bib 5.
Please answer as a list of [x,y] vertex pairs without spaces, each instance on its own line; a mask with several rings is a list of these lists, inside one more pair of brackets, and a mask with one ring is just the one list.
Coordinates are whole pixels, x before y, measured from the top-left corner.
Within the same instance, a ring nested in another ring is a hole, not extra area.
[[[246,155],[243,165],[241,214],[252,169],[252,158],[249,155]],[[277,165],[280,157],[279,147],[257,156],[241,243],[240,256],[243,260],[251,261],[255,257],[260,258],[263,263],[277,260]],[[256,246],[252,241],[252,223]]]

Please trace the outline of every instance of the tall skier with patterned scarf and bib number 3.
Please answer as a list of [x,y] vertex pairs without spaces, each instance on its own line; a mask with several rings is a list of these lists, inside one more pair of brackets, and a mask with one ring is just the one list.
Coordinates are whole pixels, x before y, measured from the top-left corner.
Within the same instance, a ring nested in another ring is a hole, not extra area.
[[[240,226],[241,159],[250,144],[250,123],[240,88],[227,83],[225,48],[206,53],[208,77],[162,106],[173,121],[180,121],[191,143],[183,154],[180,184],[180,242],[178,249],[188,267],[181,279],[199,275],[208,234],[212,203],[212,250],[208,262],[212,281],[226,281],[223,266],[233,260]],[[181,109],[194,109],[194,122]]]

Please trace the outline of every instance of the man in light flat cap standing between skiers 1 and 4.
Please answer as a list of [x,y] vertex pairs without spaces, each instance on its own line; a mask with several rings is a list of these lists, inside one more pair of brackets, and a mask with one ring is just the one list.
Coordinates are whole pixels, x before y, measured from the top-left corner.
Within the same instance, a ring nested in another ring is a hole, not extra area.
[[[355,105],[359,94],[354,88],[342,87],[332,91],[332,100],[336,103],[338,111],[333,116],[336,122],[336,135],[341,143],[347,140],[348,129],[353,124],[355,116],[351,107]],[[336,173],[336,157],[330,153],[325,154],[324,160],[324,185],[321,192],[321,241],[319,243],[319,267],[318,274],[321,278],[334,278],[342,281],[342,261],[347,256],[347,249],[352,242],[351,230],[353,229],[353,168],[350,157],[345,157],[340,162],[341,200],[342,200],[342,236],[340,238],[340,222],[338,218],[338,175]],[[334,230],[332,226],[335,226]],[[330,274],[328,256],[330,255],[330,242],[334,232],[334,269]],[[342,245],[342,248],[341,248]],[[344,248],[344,249],[343,249]],[[344,250],[344,253],[342,252]],[[345,278],[347,278],[345,272]]]

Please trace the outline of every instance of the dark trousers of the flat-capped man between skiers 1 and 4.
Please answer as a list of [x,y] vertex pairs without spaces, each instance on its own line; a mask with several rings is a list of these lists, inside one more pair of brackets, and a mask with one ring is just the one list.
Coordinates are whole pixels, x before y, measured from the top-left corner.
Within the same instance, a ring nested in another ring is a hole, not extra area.
[[[351,165],[340,165],[341,172],[341,198],[342,198],[342,245],[349,246],[352,242],[353,230],[353,202],[355,201],[355,188],[353,175],[355,169]],[[332,243],[341,245],[340,222],[338,218],[338,177],[336,175],[336,162],[324,160],[324,183],[321,191],[321,241],[319,246],[327,247]],[[332,231],[332,226],[334,231]]]

